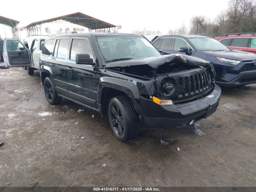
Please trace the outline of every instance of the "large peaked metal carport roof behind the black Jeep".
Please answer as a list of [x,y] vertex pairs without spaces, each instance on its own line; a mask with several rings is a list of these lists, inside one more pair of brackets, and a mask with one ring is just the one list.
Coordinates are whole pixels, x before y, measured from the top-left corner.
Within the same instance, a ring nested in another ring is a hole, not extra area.
[[102,20],[96,19],[94,17],[88,16],[88,15],[80,13],[80,12],[77,12],[77,13],[73,13],[73,14],[69,14],[69,15],[64,15],[64,16],[60,16],[60,17],[56,17],[56,18],[51,18],[51,19],[47,19],[47,20],[34,22],[34,23],[31,23],[28,26],[26,26],[26,28],[36,26],[37,24],[53,22],[56,20],[65,20],[70,23],[78,24],[80,26],[84,26],[84,27],[92,29],[92,30],[116,27],[113,24],[104,22]]

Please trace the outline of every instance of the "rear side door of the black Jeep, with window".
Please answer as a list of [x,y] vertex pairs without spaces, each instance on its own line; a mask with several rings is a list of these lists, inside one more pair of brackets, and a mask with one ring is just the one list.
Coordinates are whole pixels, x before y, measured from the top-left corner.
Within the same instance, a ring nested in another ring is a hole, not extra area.
[[62,96],[70,97],[67,90],[66,64],[68,58],[68,45],[70,37],[56,38],[50,62],[48,65],[52,70],[52,78],[56,91]]

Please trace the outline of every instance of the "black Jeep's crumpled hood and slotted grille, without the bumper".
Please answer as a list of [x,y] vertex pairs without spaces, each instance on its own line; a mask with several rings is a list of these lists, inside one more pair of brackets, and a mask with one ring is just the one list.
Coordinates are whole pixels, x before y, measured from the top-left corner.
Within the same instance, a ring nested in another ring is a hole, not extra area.
[[180,104],[207,96],[214,88],[215,70],[209,62],[181,54],[108,64],[108,69],[155,80],[154,95]]

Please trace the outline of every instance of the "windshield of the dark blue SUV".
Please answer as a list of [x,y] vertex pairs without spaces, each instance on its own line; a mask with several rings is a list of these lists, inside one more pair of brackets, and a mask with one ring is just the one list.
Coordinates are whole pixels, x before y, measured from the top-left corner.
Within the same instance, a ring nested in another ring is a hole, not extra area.
[[198,51],[227,51],[230,50],[213,38],[190,38],[190,42]]

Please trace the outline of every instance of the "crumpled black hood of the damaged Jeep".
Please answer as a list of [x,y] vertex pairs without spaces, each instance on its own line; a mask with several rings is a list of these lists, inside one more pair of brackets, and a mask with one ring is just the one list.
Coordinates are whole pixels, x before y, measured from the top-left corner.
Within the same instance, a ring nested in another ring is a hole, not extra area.
[[106,68],[125,67],[125,66],[134,66],[134,65],[149,65],[150,67],[157,69],[161,65],[164,65],[167,63],[172,64],[177,61],[190,66],[206,66],[206,65],[211,66],[209,62],[200,58],[187,56],[183,54],[170,54],[170,55],[161,55],[157,57],[111,62],[106,64]]

